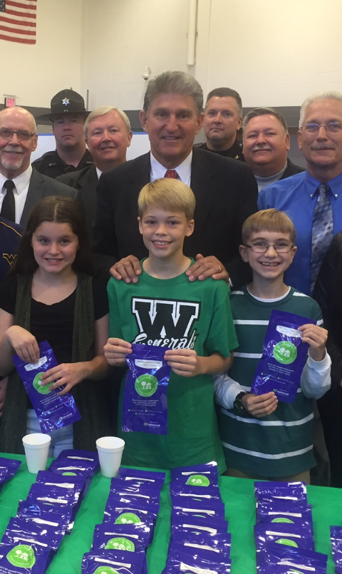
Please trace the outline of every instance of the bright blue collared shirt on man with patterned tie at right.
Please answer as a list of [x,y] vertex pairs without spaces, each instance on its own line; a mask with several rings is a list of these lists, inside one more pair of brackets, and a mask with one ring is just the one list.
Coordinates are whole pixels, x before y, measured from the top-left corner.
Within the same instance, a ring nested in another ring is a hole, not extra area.
[[[310,294],[311,280],[311,230],[316,207],[318,185],[321,182],[307,171],[291,178],[267,185],[258,198],[259,209],[275,207],[285,211],[296,227],[298,250],[294,262],[286,271],[284,281],[299,291]],[[342,231],[342,173],[328,181],[329,199],[333,207],[333,233]]]

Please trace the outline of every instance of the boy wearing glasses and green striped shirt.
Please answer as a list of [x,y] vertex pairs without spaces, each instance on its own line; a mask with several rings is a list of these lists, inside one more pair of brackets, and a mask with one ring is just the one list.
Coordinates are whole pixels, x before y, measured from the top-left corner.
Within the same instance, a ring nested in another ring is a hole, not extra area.
[[[215,376],[219,433],[229,476],[275,481],[305,480],[315,466],[312,399],[330,388],[331,359],[321,309],[310,297],[284,284],[284,272],[296,254],[296,230],[289,217],[269,209],[248,217],[239,251],[252,267],[252,283],[232,293],[231,308],[239,347],[228,375]],[[299,327],[309,344],[301,389],[293,404],[274,392],[251,394],[272,309],[315,319]]]

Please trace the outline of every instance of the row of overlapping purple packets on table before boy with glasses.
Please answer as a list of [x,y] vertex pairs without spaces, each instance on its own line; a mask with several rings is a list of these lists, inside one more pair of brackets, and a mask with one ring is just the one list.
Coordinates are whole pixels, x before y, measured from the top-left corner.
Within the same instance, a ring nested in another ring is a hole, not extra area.
[[289,568],[326,574],[328,556],[315,552],[306,483],[255,482],[254,493],[258,574],[287,574]]

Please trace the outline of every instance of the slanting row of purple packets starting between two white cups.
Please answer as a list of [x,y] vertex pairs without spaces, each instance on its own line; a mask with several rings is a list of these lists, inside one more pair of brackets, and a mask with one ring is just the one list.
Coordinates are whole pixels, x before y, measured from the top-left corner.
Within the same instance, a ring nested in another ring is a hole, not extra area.
[[46,572],[63,536],[71,533],[86,480],[98,468],[97,453],[62,451],[48,471],[38,472],[26,501],[19,501],[16,518],[10,518],[1,538],[1,574]]

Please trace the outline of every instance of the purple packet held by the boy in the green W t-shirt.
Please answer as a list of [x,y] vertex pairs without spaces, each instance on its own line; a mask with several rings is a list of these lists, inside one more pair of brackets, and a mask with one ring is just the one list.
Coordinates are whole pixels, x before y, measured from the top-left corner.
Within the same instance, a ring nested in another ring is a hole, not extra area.
[[123,395],[123,431],[167,434],[167,347],[132,344]]

